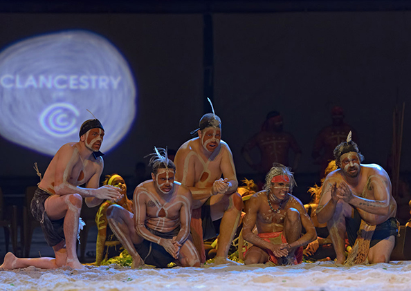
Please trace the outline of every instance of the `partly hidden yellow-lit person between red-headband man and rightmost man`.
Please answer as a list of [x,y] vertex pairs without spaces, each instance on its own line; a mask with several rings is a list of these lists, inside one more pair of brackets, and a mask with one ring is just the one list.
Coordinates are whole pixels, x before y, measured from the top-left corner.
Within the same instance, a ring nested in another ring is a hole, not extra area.
[[331,160],[329,162],[327,169],[325,169],[324,178],[321,179],[321,186],[318,187],[314,185],[314,187],[309,188],[309,192],[313,197],[311,203],[304,205],[307,214],[310,216],[311,221],[313,222],[314,227],[316,227],[317,232],[317,239],[315,241],[311,241],[304,249],[304,258],[309,260],[322,260],[326,259],[327,257],[331,260],[336,259],[336,252],[334,251],[334,247],[332,246],[331,236],[329,236],[329,231],[327,227],[327,223],[318,223],[317,219],[317,207],[318,201],[320,201],[322,184],[325,180],[325,177],[331,171],[337,169],[336,161]]

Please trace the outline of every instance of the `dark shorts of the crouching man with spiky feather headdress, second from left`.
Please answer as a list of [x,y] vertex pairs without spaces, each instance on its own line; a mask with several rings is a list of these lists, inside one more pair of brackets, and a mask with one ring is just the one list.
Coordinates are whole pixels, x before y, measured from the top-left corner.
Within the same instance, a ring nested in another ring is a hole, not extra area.
[[[180,232],[180,227],[176,227],[176,229],[172,230],[171,232],[157,232],[156,230],[148,227],[147,229],[155,236],[166,239],[172,239]],[[134,245],[134,247],[136,247],[136,251],[140,255],[141,259],[143,259],[144,263],[147,265],[167,267],[169,263],[172,263],[176,260],[169,252],[165,250],[164,247],[158,245],[157,243],[153,243],[152,241],[144,240],[143,243]]]

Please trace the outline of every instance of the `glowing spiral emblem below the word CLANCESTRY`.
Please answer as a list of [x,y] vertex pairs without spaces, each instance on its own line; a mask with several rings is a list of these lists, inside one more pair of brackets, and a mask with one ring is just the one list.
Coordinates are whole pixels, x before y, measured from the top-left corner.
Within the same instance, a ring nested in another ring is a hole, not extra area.
[[40,115],[42,129],[49,135],[64,138],[77,131],[79,111],[69,103],[56,103],[48,106]]

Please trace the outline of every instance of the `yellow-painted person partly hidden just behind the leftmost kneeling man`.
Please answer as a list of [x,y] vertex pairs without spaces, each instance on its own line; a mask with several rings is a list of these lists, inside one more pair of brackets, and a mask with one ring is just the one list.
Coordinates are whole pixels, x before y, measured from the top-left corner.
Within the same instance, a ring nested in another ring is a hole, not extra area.
[[[109,227],[109,221],[107,220],[107,209],[110,205],[117,204],[133,213],[133,202],[127,198],[127,186],[122,176],[113,173],[107,175],[103,185],[111,185],[121,189],[122,197],[116,201],[106,200],[98,209],[95,214],[95,224],[98,228],[96,252],[95,252],[95,265],[101,265],[104,261],[118,256],[121,253],[121,243],[118,238],[113,234]],[[121,247],[122,248],[122,247]]]

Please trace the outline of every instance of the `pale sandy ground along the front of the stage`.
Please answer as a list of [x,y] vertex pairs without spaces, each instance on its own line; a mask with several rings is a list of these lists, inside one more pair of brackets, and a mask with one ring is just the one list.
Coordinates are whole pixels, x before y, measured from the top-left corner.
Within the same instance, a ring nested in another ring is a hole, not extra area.
[[287,267],[87,268],[0,271],[0,290],[411,290],[411,261],[354,267],[323,262]]

